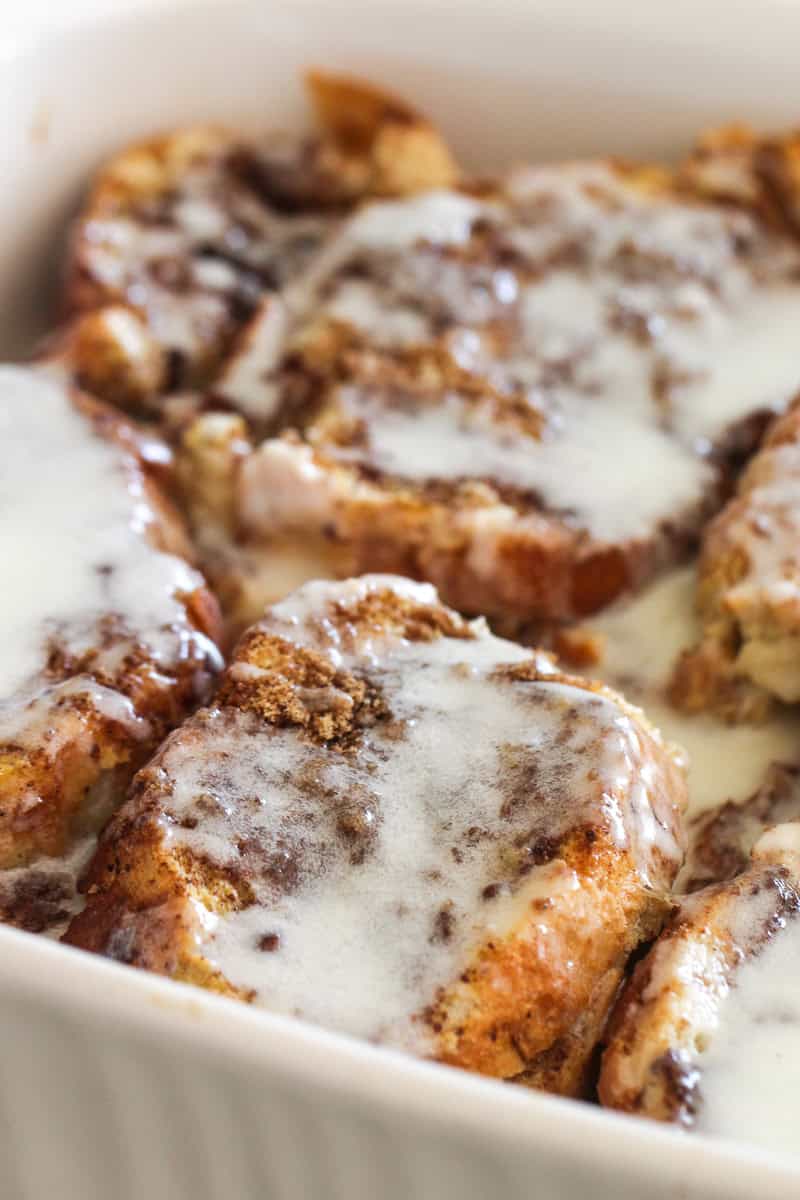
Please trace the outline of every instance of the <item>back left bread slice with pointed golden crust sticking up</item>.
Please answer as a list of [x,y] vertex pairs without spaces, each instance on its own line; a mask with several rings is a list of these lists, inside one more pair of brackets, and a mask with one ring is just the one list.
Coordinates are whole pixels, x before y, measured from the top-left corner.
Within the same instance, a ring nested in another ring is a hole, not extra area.
[[321,72],[308,84],[314,136],[197,126],[101,168],[74,227],[58,338],[83,385],[137,413],[207,385],[260,296],[303,269],[338,214],[455,181],[438,133],[402,101]]

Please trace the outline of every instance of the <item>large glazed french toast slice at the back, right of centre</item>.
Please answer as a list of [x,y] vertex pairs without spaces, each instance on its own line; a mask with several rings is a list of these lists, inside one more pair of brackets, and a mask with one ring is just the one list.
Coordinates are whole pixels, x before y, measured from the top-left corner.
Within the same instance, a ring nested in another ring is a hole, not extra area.
[[595,612],[686,556],[796,392],[799,268],[660,169],[361,206],[224,368],[278,434],[236,464],[237,544],[324,539],[505,622]]

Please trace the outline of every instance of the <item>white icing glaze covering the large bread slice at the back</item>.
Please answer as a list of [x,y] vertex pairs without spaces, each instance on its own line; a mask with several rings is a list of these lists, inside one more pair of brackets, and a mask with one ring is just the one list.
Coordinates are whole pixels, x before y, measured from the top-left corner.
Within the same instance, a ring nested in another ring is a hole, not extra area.
[[[511,268],[483,233],[475,241],[479,217],[513,247]],[[457,253],[468,242],[471,258]],[[716,481],[710,446],[798,390],[799,266],[798,248],[746,214],[567,164],[522,172],[480,205],[443,192],[369,204],[285,300],[295,330],[321,313],[384,349],[444,340],[545,416],[537,442],[505,430],[491,403],[468,412],[447,395],[403,413],[391,396],[343,389],[336,403],[366,419],[367,437],[333,448],[341,458],[415,482],[495,478],[624,541],[696,523]]]

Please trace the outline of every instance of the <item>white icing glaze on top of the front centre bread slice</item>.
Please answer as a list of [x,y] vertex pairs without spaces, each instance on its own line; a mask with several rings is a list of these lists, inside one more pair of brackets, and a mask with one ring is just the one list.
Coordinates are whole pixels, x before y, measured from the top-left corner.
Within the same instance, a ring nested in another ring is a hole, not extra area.
[[[162,755],[174,780],[162,827],[168,841],[234,871],[245,842],[259,847],[247,875],[255,902],[211,918],[203,935],[227,978],[272,1010],[425,1051],[428,1033],[413,1018],[487,932],[503,936],[534,900],[558,905],[578,887],[564,863],[521,872],[525,845],[599,823],[631,847],[644,881],[654,850],[674,860],[676,847],[651,808],[651,750],[613,697],[546,676],[495,678],[531,652],[482,622],[474,638],[409,642],[377,628],[354,646],[347,607],[386,588],[435,600],[429,586],[390,576],[313,583],[265,625],[374,680],[390,724],[369,726],[351,755],[212,712],[201,754],[178,738]],[[537,666],[551,670],[546,656]],[[260,668],[233,672],[247,680]],[[331,688],[320,698],[337,696],[351,703]],[[348,818],[355,841],[342,835]],[[259,949],[267,935],[277,948]]]

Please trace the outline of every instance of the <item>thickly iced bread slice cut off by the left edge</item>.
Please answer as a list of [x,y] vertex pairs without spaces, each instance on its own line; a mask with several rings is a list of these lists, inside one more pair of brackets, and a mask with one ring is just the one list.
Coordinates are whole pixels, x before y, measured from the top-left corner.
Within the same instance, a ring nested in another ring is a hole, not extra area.
[[0,918],[37,924],[41,860],[58,874],[206,695],[219,617],[156,444],[42,371],[0,368]]

